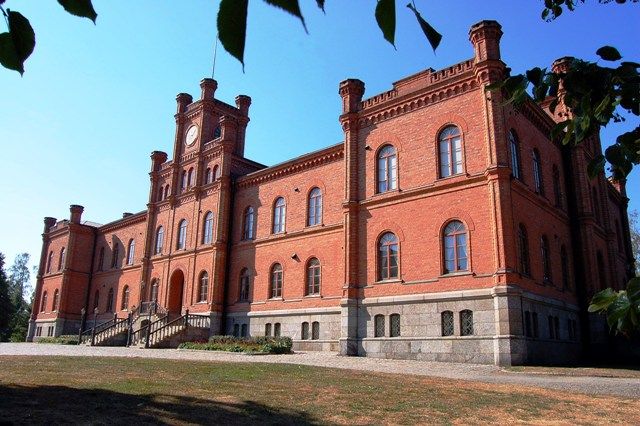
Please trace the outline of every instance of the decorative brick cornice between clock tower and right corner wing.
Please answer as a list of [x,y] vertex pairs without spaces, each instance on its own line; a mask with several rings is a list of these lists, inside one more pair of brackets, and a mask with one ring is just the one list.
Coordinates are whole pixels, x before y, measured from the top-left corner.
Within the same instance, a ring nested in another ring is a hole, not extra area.
[[343,157],[344,144],[340,143],[321,151],[312,152],[284,163],[276,164],[275,166],[250,173],[239,178],[237,180],[237,185],[238,188],[247,188],[259,183],[310,170],[323,164],[338,161]]

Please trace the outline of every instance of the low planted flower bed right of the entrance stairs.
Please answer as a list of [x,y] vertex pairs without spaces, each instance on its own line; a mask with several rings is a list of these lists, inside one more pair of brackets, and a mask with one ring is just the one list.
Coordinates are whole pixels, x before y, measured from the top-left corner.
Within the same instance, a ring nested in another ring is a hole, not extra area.
[[291,353],[293,342],[290,337],[233,337],[212,336],[208,341],[185,342],[178,349],[203,351],[225,351],[262,354]]

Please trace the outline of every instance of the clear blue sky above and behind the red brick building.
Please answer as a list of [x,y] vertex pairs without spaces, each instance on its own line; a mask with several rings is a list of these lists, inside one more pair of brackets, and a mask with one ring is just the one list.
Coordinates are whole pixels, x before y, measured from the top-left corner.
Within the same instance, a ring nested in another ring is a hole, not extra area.
[[[515,72],[567,55],[596,60],[605,44],[640,61],[637,4],[594,0],[547,23],[542,1],[417,0],[444,35],[434,54],[404,1],[397,6],[397,50],[376,26],[373,1],[329,0],[326,15],[314,1],[301,3],[308,35],[293,17],[250,1],[244,73],[218,49],[216,97],[232,104],[238,94],[252,97],[246,155],[264,164],[341,141],[341,80],[363,80],[369,97],[422,69],[470,58],[468,30],[482,19],[502,24],[502,57]],[[197,97],[198,82],[211,76],[217,1],[94,5],[95,26],[55,1],[5,3],[29,18],[37,39],[24,77],[0,68],[0,251],[9,264],[20,252],[35,264],[43,217],[68,218],[69,204],[85,206],[83,218],[100,223],[145,209],[149,154],[171,155],[175,95]],[[635,125],[633,118],[605,129],[605,143]],[[629,182],[635,209],[639,175],[635,170]]]

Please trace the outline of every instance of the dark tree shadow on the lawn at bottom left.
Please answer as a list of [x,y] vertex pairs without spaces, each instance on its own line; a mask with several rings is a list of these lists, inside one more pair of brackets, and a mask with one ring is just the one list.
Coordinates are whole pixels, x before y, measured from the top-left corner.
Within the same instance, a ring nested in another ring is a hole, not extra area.
[[253,401],[132,395],[65,386],[0,385],[0,413],[0,424],[320,424],[308,413]]

